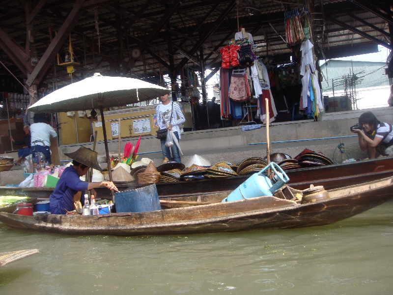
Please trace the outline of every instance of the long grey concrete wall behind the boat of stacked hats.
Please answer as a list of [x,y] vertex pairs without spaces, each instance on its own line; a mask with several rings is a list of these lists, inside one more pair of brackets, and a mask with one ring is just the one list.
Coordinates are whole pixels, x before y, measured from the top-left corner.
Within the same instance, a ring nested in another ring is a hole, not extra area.
[[[383,122],[393,123],[393,107],[369,109],[375,116]],[[358,118],[364,111],[349,111],[329,113],[322,115],[319,121],[303,120],[272,123],[270,125],[270,141],[299,140],[323,137],[335,137],[354,135],[350,132],[350,126],[358,122]],[[121,151],[124,149],[126,142],[132,142],[134,145],[138,138],[123,139],[121,141]],[[201,131],[191,131],[182,133],[180,146],[184,154],[202,154],[204,151],[222,149],[240,149],[250,147],[250,143],[266,142],[266,127],[259,129],[242,131],[241,127],[229,127],[220,129],[210,129]],[[92,143],[80,145],[65,145],[60,149],[60,160],[66,160],[64,153],[75,151],[79,146],[92,148]],[[108,142],[110,153],[117,154],[118,141],[110,140]],[[105,155],[104,143],[97,143],[97,152],[99,155]],[[139,152],[161,151],[160,141],[155,136],[142,137]],[[162,153],[149,153],[144,155],[150,158],[160,158]],[[142,157],[142,156],[140,156]],[[183,161],[184,162],[184,161]]]

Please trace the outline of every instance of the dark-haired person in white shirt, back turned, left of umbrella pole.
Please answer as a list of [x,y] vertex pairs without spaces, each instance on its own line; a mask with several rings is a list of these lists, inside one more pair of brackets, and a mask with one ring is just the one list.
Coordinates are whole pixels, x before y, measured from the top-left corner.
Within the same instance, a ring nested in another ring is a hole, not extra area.
[[45,161],[52,164],[51,159],[51,137],[57,137],[57,133],[47,123],[45,114],[34,114],[34,123],[30,126],[31,152],[35,156],[36,152],[42,152]]

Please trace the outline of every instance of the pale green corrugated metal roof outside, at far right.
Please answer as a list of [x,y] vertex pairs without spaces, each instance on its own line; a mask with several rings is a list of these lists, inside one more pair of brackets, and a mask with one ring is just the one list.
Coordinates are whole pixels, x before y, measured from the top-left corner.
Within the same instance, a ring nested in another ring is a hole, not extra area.
[[343,76],[353,74],[360,81],[356,86],[357,89],[389,85],[388,76],[384,75],[385,67],[385,62],[330,59],[321,65],[321,72],[324,77],[322,90],[332,91],[332,80],[335,91],[343,90]]

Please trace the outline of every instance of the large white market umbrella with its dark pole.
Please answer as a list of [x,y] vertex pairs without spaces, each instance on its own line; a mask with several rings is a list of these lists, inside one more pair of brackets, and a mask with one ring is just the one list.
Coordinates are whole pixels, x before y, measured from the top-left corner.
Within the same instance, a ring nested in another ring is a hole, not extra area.
[[30,106],[28,110],[34,113],[58,113],[99,108],[104,132],[108,172],[112,181],[103,109],[154,99],[168,93],[168,91],[164,87],[138,79],[101,76],[96,73],[93,77],[85,78],[82,81],[53,91]]

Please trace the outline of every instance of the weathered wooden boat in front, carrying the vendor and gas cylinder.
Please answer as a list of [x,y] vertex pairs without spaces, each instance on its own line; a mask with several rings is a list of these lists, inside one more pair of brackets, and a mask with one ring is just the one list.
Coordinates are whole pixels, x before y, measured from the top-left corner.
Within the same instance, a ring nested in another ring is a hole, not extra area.
[[[227,193],[182,197],[208,205],[95,216],[0,212],[0,221],[21,230],[64,235],[178,235],[289,229],[331,224],[362,213],[393,197],[393,177],[329,190],[330,199],[297,204],[276,197],[222,203]],[[178,200],[178,199],[176,199]]]

